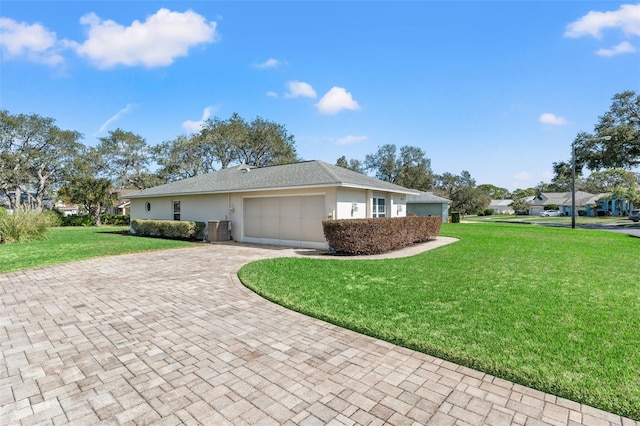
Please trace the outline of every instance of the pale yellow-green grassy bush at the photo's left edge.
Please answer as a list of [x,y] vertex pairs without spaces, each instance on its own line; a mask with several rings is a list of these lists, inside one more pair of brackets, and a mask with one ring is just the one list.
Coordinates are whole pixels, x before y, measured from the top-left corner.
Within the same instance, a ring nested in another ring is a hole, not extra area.
[[42,210],[17,209],[0,214],[0,242],[4,244],[41,240],[54,224],[54,216]]

